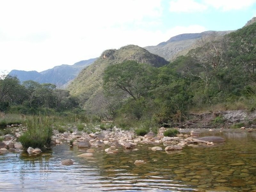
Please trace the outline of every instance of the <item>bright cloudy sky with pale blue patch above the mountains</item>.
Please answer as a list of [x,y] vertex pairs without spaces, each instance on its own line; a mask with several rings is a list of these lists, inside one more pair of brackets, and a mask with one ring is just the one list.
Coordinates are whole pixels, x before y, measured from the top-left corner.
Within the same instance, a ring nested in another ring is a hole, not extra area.
[[0,0],[0,72],[38,72],[128,44],[236,30],[256,0]]

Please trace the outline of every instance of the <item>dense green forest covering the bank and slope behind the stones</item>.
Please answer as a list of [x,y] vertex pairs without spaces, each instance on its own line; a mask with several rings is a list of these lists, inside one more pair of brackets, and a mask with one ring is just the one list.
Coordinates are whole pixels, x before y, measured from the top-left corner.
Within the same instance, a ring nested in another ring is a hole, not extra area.
[[[82,113],[114,120],[179,123],[188,112],[256,108],[256,23],[225,36],[202,37],[187,55],[162,67],[126,60],[104,70],[106,110],[88,111],[83,98],[53,84],[0,79],[0,110],[21,114]],[[156,64],[157,65],[157,64]]]

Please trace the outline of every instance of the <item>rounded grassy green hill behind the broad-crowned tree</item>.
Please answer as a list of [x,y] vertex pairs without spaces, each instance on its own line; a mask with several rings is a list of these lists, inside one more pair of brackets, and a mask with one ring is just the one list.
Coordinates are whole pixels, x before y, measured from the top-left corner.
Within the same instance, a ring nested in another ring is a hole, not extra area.
[[161,67],[169,63],[136,45],[127,45],[118,50],[106,50],[92,65],[84,68],[67,89],[72,95],[78,96],[86,108],[93,108],[93,112],[98,111],[104,105],[102,89],[104,70],[109,65],[122,63],[125,60],[135,60],[154,67]]

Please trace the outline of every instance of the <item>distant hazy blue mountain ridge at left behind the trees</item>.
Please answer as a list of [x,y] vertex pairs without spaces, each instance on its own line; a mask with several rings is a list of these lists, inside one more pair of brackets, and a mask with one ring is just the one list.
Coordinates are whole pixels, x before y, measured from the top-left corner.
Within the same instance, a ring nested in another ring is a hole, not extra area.
[[74,65],[60,65],[42,72],[12,70],[9,75],[17,76],[20,82],[32,80],[38,83],[51,83],[65,87],[86,66],[92,64],[97,58],[82,60]]

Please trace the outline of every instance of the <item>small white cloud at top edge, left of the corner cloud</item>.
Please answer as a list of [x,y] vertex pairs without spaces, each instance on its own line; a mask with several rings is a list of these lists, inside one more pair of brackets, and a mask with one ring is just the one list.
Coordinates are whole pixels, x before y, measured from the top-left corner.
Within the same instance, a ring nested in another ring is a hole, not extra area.
[[171,12],[201,12],[207,9],[207,6],[202,3],[197,3],[195,0],[172,0],[170,1]]

